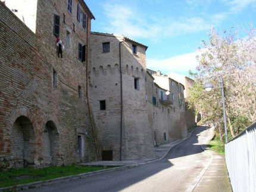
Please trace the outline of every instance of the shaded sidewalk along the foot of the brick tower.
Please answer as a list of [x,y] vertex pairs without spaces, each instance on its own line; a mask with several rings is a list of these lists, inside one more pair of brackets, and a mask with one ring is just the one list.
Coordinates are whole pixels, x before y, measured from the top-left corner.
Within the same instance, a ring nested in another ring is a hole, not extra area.
[[154,160],[163,159],[164,156],[167,154],[167,152],[176,145],[177,143],[180,143],[184,139],[176,140],[171,143],[162,144],[159,147],[155,147],[155,158],[153,159],[141,159],[141,160],[103,160],[103,161],[93,161],[93,162],[85,162],[81,163],[82,166],[126,166],[126,165],[137,165],[140,163],[146,163],[146,162],[152,162]]

